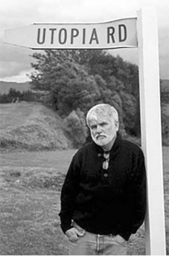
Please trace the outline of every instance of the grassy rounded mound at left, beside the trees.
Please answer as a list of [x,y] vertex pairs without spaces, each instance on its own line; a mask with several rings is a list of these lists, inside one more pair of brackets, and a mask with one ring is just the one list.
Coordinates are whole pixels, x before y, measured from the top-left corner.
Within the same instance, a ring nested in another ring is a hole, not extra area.
[[52,150],[72,147],[56,112],[36,102],[1,104],[1,150]]

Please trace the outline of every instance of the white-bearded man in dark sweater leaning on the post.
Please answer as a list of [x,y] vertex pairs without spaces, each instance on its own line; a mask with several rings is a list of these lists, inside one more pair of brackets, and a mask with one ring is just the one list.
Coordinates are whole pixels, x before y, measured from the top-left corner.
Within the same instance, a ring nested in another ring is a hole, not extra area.
[[144,222],[144,155],[118,134],[114,107],[96,105],[86,119],[93,141],[70,164],[61,191],[61,228],[69,255],[126,255],[126,241]]

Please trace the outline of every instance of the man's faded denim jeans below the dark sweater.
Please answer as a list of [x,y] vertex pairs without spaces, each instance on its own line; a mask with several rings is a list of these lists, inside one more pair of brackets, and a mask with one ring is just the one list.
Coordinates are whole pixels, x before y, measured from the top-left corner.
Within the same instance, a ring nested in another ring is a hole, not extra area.
[[[77,224],[74,227],[83,230]],[[127,242],[119,235],[96,235],[84,231],[77,241],[69,241],[69,255],[127,255]]]

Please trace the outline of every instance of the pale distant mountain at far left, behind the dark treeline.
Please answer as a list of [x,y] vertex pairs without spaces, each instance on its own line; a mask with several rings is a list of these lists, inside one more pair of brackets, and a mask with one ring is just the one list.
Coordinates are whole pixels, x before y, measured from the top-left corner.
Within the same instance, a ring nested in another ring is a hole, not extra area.
[[0,93],[8,93],[10,88],[20,90],[23,92],[24,90],[29,90],[30,85],[29,82],[25,83],[15,83],[15,82],[5,82],[5,81],[0,81]]

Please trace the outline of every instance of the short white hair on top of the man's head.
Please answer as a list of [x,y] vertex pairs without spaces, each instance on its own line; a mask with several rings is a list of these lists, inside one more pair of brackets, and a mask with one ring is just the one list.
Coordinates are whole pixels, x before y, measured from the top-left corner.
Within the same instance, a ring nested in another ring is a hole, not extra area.
[[87,122],[88,127],[89,127],[90,120],[96,119],[97,115],[102,115],[102,116],[108,115],[110,117],[110,119],[112,119],[113,121],[118,121],[117,110],[109,104],[102,103],[102,104],[98,104],[98,105],[92,107],[88,111],[87,116],[86,116],[86,122]]

